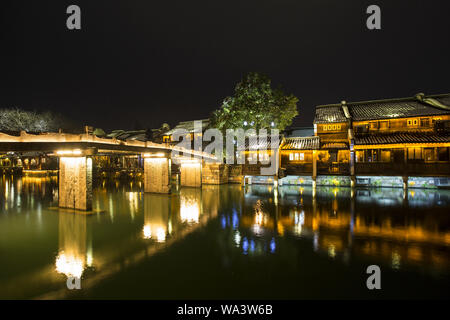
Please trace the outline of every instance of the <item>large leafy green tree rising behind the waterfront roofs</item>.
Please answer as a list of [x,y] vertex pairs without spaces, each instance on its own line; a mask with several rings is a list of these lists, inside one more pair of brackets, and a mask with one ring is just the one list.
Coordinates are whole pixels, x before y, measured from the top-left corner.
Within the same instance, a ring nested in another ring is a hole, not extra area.
[[225,129],[284,130],[298,114],[298,99],[286,95],[281,88],[273,89],[270,79],[259,73],[249,73],[236,85],[233,97],[226,97],[220,109],[213,112],[211,124]]

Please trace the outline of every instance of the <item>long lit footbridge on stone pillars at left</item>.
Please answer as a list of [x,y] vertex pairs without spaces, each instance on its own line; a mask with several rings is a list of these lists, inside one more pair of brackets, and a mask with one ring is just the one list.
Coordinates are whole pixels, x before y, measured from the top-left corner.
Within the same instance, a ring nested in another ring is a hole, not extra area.
[[138,154],[144,158],[144,191],[170,193],[171,161],[180,163],[181,185],[201,186],[205,160],[214,155],[151,141],[99,138],[88,133],[43,133],[9,135],[0,133],[1,152],[40,151],[59,158],[59,206],[92,209],[92,156]]

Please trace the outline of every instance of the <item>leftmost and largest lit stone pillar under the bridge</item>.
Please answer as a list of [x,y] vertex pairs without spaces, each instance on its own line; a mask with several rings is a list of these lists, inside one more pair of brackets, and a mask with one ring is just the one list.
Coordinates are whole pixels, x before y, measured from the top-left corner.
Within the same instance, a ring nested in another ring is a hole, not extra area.
[[92,210],[92,158],[59,158],[59,206]]

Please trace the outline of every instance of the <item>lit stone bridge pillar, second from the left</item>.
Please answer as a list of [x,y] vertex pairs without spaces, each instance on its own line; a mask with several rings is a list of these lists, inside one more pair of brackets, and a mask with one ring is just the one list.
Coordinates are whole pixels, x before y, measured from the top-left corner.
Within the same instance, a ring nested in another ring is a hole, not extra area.
[[170,193],[170,159],[144,158],[144,192]]

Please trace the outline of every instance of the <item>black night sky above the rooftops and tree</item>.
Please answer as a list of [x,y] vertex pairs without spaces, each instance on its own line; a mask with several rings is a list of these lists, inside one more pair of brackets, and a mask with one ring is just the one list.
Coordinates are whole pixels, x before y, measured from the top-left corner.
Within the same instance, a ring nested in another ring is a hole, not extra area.
[[[318,104],[450,92],[443,1],[9,1],[0,6],[0,108],[52,110],[106,130],[208,117],[242,75]],[[66,28],[66,8],[82,30]],[[370,4],[382,30],[366,28]]]

